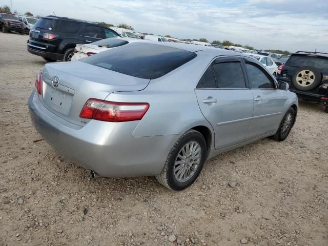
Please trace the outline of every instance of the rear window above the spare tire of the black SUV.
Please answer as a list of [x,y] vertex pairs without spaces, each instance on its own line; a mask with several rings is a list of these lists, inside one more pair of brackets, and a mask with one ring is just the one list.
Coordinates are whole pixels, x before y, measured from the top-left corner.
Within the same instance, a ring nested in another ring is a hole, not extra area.
[[328,58],[309,55],[292,55],[285,65],[290,67],[312,66],[324,69],[328,68]]

